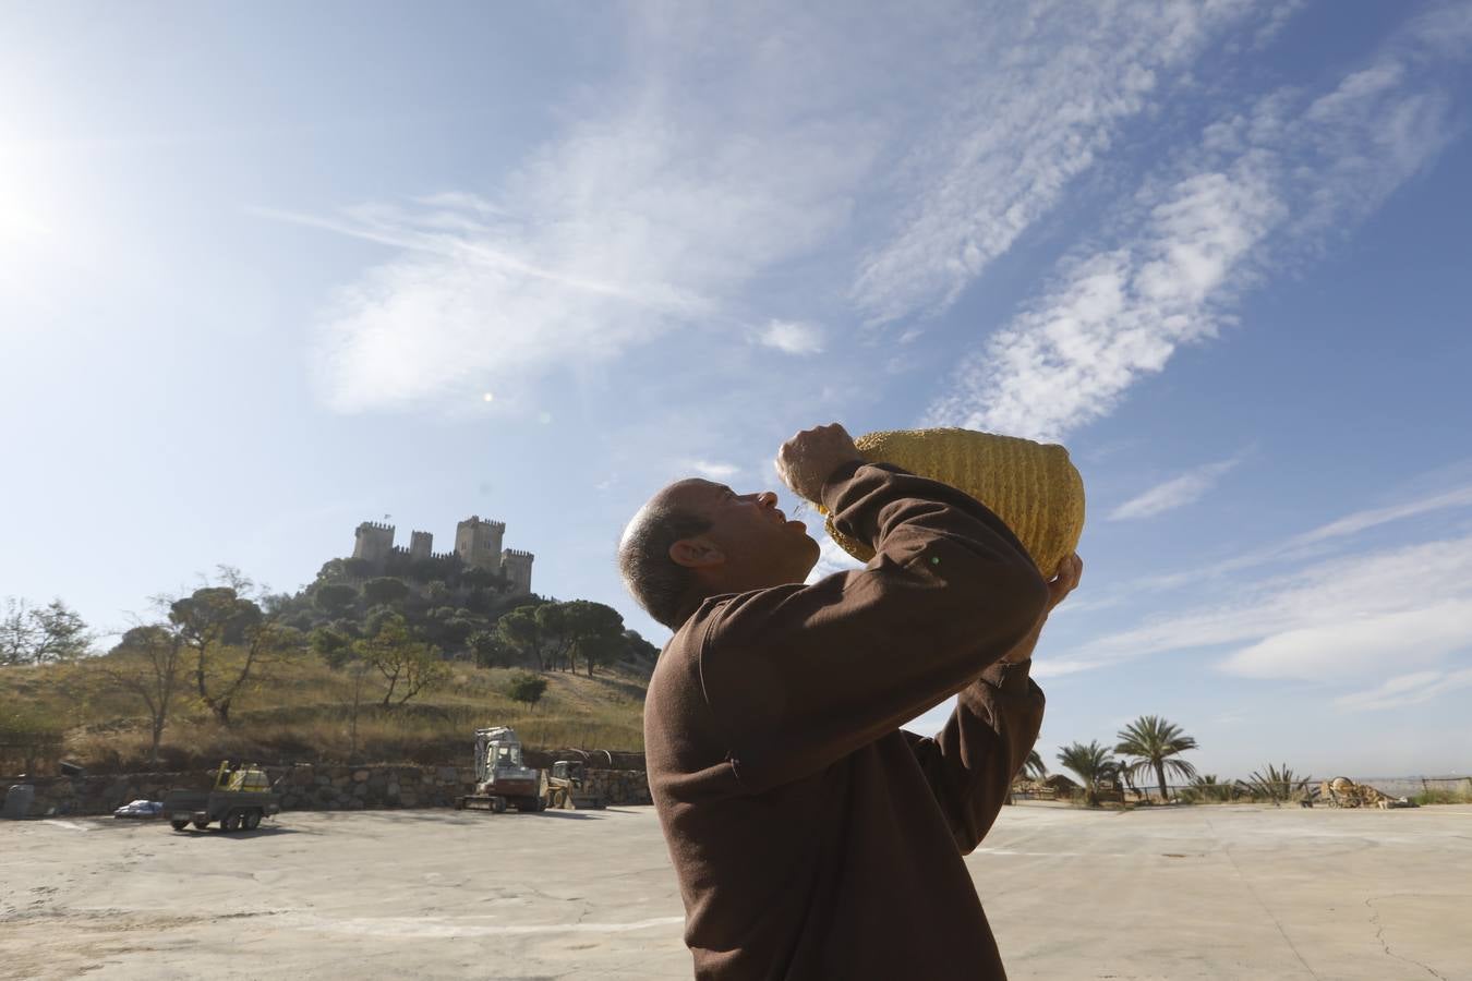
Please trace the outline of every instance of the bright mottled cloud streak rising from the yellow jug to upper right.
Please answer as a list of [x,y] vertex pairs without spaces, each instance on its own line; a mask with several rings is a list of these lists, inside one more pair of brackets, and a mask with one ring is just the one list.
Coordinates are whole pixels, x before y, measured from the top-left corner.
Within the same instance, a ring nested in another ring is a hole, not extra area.
[[1209,126],[1145,181],[1117,244],[1070,257],[926,422],[1057,440],[1110,413],[1182,344],[1214,337],[1272,256],[1319,249],[1446,146],[1451,82],[1437,69],[1453,53],[1428,35],[1416,21],[1332,91],[1281,90]]

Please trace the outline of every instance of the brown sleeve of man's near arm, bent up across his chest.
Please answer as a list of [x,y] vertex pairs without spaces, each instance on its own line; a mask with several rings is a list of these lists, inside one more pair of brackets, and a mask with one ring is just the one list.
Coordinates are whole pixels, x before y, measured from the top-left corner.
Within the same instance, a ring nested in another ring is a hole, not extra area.
[[740,784],[798,780],[966,688],[1038,624],[1047,587],[973,497],[885,463],[849,463],[823,500],[870,541],[861,569],[712,597],[701,687]]

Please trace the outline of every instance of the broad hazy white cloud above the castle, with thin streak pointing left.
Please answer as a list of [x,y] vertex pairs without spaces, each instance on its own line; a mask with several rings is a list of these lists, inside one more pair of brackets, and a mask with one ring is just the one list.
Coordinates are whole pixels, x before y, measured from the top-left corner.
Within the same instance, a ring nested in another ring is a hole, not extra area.
[[[823,91],[755,110],[768,66],[752,47],[705,104],[674,84],[693,54],[659,29],[631,43],[642,57],[630,81],[568,112],[565,131],[492,193],[325,215],[258,209],[392,250],[315,325],[314,378],[330,407],[530,413],[553,372],[611,363],[676,329],[749,322],[743,287],[846,225],[876,126],[817,112]],[[773,337],[788,350],[815,343],[813,329]],[[475,404],[481,391],[495,403]]]

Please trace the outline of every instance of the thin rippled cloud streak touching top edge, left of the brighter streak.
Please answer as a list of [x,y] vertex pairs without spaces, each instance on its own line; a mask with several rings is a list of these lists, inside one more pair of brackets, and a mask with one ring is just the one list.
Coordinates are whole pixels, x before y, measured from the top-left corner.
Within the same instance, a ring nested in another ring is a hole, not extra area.
[[860,266],[860,309],[885,322],[948,307],[1253,6],[1001,4],[958,26],[969,57],[949,68],[966,82],[939,94],[941,122],[899,168],[913,203]]

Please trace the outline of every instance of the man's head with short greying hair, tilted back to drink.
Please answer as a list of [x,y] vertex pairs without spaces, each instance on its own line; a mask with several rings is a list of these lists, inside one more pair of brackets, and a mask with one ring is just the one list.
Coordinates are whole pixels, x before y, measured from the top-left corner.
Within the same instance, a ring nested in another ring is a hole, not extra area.
[[707,596],[802,582],[817,560],[818,543],[786,519],[774,493],[699,478],[651,497],[618,544],[629,594],[670,629]]

